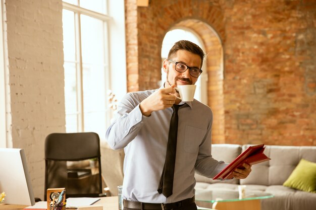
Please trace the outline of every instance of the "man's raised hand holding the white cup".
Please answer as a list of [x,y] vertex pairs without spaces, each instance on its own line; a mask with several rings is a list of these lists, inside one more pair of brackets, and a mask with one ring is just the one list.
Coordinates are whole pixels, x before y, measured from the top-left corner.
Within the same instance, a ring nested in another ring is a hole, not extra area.
[[140,102],[139,108],[141,113],[149,116],[153,111],[172,107],[177,99],[176,96],[172,95],[176,93],[174,87],[175,85],[172,85],[168,88],[159,89]]

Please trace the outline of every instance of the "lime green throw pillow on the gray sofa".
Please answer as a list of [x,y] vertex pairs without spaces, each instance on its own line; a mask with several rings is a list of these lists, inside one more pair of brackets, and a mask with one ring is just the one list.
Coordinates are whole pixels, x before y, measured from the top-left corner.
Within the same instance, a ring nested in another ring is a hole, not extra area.
[[316,163],[301,159],[283,186],[316,193]]

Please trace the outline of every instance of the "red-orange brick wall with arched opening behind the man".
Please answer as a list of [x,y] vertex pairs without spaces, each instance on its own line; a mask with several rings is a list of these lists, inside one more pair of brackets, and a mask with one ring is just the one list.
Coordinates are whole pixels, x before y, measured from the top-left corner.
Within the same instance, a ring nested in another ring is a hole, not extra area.
[[158,87],[163,38],[187,27],[208,54],[213,143],[316,145],[315,1],[125,3],[128,91]]

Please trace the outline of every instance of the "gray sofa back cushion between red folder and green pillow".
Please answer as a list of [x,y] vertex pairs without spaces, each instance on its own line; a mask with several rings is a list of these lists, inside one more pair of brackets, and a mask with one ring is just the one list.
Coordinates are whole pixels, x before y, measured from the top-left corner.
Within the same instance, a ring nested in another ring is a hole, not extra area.
[[[242,151],[249,146],[243,145]],[[249,176],[241,179],[240,184],[282,185],[302,158],[316,162],[316,147],[266,146],[265,154],[271,160],[253,165]]]

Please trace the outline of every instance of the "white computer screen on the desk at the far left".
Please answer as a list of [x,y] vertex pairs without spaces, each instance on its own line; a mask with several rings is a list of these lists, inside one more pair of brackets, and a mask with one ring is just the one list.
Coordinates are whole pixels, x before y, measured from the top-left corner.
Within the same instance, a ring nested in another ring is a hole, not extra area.
[[23,149],[0,148],[0,193],[4,203],[34,205],[35,199]]

